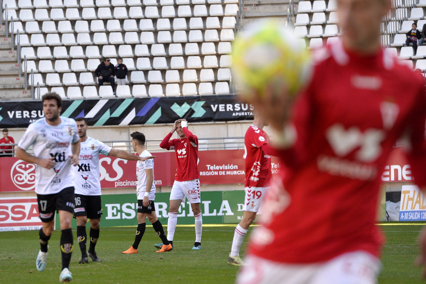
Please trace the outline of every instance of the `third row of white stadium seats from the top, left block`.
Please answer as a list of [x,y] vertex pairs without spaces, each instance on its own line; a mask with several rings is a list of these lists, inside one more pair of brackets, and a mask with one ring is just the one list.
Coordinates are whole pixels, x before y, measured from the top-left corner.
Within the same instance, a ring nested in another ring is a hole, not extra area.
[[[222,17],[222,26],[219,17],[207,17],[203,20],[201,17],[192,17],[189,20],[189,28],[194,30],[203,29],[234,29],[236,19],[233,16]],[[57,28],[58,27],[58,28]],[[106,27],[106,29],[105,29]],[[139,26],[135,19],[126,19],[121,25],[120,20],[107,20],[105,25],[104,20],[91,20],[90,29],[89,21],[77,20],[75,24],[69,20],[59,21],[58,25],[54,21],[37,21],[26,22],[25,29],[22,22],[14,21],[13,32],[20,34],[40,34],[40,33],[90,33],[90,32],[149,32],[149,31],[171,31],[171,30],[187,30],[187,20],[185,18],[174,18],[170,24],[170,19],[157,19],[155,26],[152,19],[139,20]],[[9,32],[12,32],[12,23],[9,24]]]

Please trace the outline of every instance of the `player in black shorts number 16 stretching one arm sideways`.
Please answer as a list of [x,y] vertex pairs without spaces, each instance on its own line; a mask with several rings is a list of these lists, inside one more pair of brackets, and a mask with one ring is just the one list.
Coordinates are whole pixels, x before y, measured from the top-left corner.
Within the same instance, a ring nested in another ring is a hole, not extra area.
[[89,263],[86,253],[86,223],[90,219],[90,245],[89,257],[92,261],[101,261],[95,252],[99,239],[99,224],[101,221],[101,182],[99,176],[99,154],[112,156],[130,161],[147,161],[150,157],[138,157],[126,151],[113,149],[101,141],[87,136],[86,119],[75,119],[80,137],[80,155],[78,165],[74,167],[75,174],[75,208],[74,216],[77,218],[77,240],[81,250],[81,261]]

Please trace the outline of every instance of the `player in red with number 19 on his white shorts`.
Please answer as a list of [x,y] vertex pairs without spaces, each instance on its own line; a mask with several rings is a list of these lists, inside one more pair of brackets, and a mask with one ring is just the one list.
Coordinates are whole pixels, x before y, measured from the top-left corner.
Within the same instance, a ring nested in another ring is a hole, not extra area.
[[269,136],[263,131],[265,122],[255,113],[253,124],[247,129],[244,136],[245,158],[245,197],[244,213],[241,221],[235,228],[231,252],[228,257],[230,265],[244,265],[239,257],[239,249],[247,234],[248,227],[256,218],[260,204],[271,183],[271,146]]

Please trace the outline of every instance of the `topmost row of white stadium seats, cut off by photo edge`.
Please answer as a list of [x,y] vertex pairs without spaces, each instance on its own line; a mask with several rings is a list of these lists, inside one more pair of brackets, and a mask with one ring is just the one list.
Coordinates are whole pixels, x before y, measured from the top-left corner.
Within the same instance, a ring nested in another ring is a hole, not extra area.
[[[197,5],[197,4],[221,4],[222,0],[176,0],[176,5]],[[223,0],[224,4],[238,3],[238,0]],[[93,7],[125,7],[125,6],[170,6],[175,5],[174,0],[3,0],[3,9],[7,5],[8,9],[34,9],[34,8],[93,8]]]

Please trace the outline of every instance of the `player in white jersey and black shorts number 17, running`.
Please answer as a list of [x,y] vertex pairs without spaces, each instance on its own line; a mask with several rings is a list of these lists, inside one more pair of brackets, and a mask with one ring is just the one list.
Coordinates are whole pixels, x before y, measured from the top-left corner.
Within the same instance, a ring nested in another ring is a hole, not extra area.
[[[72,253],[71,220],[74,209],[74,178],[72,165],[78,164],[80,141],[77,126],[70,118],[59,116],[62,100],[56,93],[43,95],[44,118],[31,123],[18,143],[16,157],[36,164],[35,193],[43,227],[40,229],[38,271],[46,268],[48,241],[54,229],[55,211],[60,219],[60,250],[62,271],[60,282],[72,280],[69,261]],[[26,152],[33,145],[34,155]]]

